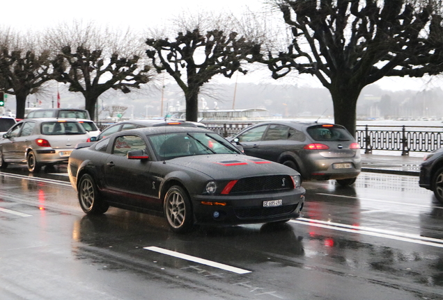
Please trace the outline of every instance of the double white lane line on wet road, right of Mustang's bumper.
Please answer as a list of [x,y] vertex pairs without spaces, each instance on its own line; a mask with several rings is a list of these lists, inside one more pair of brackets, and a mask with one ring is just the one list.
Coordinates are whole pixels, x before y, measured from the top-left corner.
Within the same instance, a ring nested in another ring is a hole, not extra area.
[[[307,221],[305,221],[307,220]],[[426,238],[421,237],[419,235],[408,235],[407,233],[396,233],[396,234],[388,234],[388,233],[382,233],[382,230],[377,232],[376,229],[371,229],[363,227],[365,229],[359,228],[359,226],[350,226],[345,224],[338,224],[338,223],[332,223],[332,222],[324,222],[319,220],[313,220],[313,219],[295,219],[290,220],[289,222],[295,223],[295,224],[301,224],[301,225],[309,225],[314,227],[320,227],[320,228],[328,228],[336,231],[344,231],[348,233],[356,233],[360,235],[371,235],[378,238],[387,238],[390,240],[399,240],[402,242],[412,242],[414,244],[423,244],[427,246],[433,246],[433,247],[439,247],[443,248],[443,240],[439,239],[433,239],[433,238]],[[322,224],[325,223],[325,224]],[[392,232],[394,233],[394,232]]]

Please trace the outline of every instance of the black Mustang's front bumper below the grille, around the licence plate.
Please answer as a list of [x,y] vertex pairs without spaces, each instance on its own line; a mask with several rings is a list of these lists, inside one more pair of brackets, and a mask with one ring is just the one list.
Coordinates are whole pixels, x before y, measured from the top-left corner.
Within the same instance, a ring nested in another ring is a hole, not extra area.
[[[256,224],[279,222],[301,216],[304,206],[304,188],[290,192],[272,192],[242,196],[192,197],[196,224]],[[264,201],[282,200],[281,206],[263,207]],[[203,204],[205,202],[206,204]],[[209,205],[209,203],[226,203]]]

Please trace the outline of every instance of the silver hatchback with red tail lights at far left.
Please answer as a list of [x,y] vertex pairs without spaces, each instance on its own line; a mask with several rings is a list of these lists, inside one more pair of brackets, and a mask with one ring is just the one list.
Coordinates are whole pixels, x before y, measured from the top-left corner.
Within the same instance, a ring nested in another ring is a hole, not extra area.
[[75,119],[24,119],[0,139],[0,168],[26,163],[29,172],[38,172],[43,165],[68,163],[75,145],[87,139]]

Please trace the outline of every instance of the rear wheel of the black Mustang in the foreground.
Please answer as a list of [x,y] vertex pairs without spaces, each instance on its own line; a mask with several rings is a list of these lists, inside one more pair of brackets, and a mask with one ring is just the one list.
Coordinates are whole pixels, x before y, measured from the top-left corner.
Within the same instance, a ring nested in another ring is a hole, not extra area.
[[86,215],[102,215],[109,208],[109,204],[100,197],[94,178],[89,174],[81,176],[78,196],[81,210]]

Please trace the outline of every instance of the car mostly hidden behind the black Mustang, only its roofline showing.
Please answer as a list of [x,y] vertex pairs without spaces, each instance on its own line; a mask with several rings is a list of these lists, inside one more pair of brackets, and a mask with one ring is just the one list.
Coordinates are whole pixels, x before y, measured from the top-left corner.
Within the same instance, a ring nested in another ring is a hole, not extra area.
[[119,131],[126,131],[134,128],[156,127],[156,126],[191,126],[197,127],[194,122],[164,120],[164,119],[134,119],[122,121],[105,128],[96,138],[91,138],[91,142],[102,140],[102,138]]

